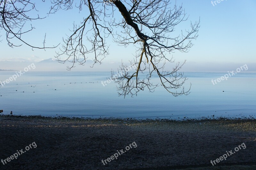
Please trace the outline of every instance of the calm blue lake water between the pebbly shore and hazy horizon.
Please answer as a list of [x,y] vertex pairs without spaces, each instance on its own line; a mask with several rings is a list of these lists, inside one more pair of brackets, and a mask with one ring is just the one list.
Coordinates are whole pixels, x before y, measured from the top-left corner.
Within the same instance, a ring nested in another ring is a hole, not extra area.
[[[1,71],[0,80],[13,74],[15,71]],[[14,115],[91,118],[256,118],[256,73],[240,72],[212,84],[212,79],[224,74],[185,72],[185,89],[192,84],[188,96],[174,97],[160,86],[154,93],[144,90],[137,97],[124,98],[118,96],[116,83],[101,84],[110,72],[28,71],[16,81],[0,85],[0,109]]]

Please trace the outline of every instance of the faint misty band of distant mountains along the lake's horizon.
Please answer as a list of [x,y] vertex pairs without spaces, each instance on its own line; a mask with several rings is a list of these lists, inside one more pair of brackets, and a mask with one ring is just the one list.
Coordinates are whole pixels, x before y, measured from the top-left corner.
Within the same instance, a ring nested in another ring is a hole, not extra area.
[[[39,62],[33,62],[28,59],[23,58],[11,58],[6,60],[0,60],[0,71],[17,71],[24,70],[24,68],[28,67],[34,63],[36,66],[35,69],[31,69],[30,71],[67,71],[67,66],[71,67],[73,65],[72,62],[66,61],[65,63],[59,63],[57,59],[49,58],[45,60],[41,60]],[[93,60],[86,60],[84,65],[79,65],[78,62],[75,63],[75,67],[71,69],[71,71],[117,71],[117,68],[121,65],[121,62],[109,62],[108,60],[103,60],[102,64],[94,64]],[[249,72],[256,71],[256,63],[220,63],[220,62],[208,62],[208,63],[199,63],[199,62],[186,62],[186,64],[182,67],[180,71],[233,71],[240,66],[247,64]],[[130,65],[129,63],[127,65]],[[172,68],[176,65],[176,63],[166,63],[165,69],[172,70]],[[93,67],[92,67],[93,66]]]

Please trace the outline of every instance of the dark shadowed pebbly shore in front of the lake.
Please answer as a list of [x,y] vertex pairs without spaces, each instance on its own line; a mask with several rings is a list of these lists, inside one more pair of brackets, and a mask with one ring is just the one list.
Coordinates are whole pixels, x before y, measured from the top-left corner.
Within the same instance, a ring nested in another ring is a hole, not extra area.
[[[256,169],[256,120],[117,120],[0,116],[0,169]],[[103,165],[132,142],[137,147]],[[211,160],[244,143],[212,166]]]

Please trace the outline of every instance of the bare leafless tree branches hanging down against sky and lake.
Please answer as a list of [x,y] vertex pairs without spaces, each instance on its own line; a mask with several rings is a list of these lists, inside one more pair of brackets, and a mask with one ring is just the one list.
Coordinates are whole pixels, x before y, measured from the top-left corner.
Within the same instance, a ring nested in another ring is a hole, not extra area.
[[[30,30],[21,32],[21,28],[26,20],[41,19],[39,16],[30,18],[26,15],[28,11],[35,9],[35,4],[30,0],[16,0],[8,4],[3,0],[1,2],[4,2],[4,5],[0,8],[0,27],[7,32],[9,45],[14,46],[10,39],[16,37],[33,47],[21,39],[21,35]],[[78,4],[77,2],[79,1],[52,0],[49,14],[60,9],[70,10],[73,7],[85,11],[83,14],[86,14],[80,25],[74,24],[72,34],[63,39],[62,48],[56,56],[59,62],[72,62],[68,67],[71,69],[76,62],[83,65],[88,56],[93,55],[94,63],[101,63],[109,53],[106,39],[111,36],[118,45],[132,44],[135,49],[131,64],[136,66],[136,70],[131,72],[122,64],[118,70],[122,72],[120,77],[113,77],[112,72],[112,78],[118,83],[119,95],[137,95],[137,92],[145,88],[154,91],[158,85],[163,86],[173,96],[189,93],[190,88],[185,90],[183,87],[187,78],[183,73],[179,73],[185,62],[177,63],[170,71],[164,67],[166,62],[174,62],[172,52],[188,52],[193,46],[192,39],[198,36],[200,21],[191,22],[189,29],[180,30],[179,35],[175,34],[176,26],[188,19],[182,6],[176,5],[175,1],[172,4],[169,0],[81,0]],[[21,3],[19,6],[22,7],[17,8],[16,3]],[[14,31],[17,28],[20,30]],[[153,76],[159,77],[159,83],[151,82]]]

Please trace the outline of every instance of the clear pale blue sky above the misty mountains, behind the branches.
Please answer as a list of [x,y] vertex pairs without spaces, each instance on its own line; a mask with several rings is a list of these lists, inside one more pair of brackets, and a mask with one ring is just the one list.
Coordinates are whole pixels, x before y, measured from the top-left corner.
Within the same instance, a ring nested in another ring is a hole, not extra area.
[[[175,3],[175,1],[173,1]],[[213,1],[214,2],[214,1]],[[188,53],[175,52],[175,61],[187,59],[196,63],[256,63],[255,40],[256,40],[256,1],[255,0],[224,0],[214,6],[210,0],[183,0],[177,1],[181,4],[185,12],[189,15],[188,22],[184,22],[177,29],[189,28],[190,21],[195,22],[200,17],[199,36],[193,41],[194,46]],[[51,4],[36,2],[37,10],[41,17],[47,16]],[[82,12],[74,8],[72,10],[60,10],[56,14],[50,14],[45,19],[36,20],[32,25],[36,28],[28,33],[25,38],[30,43],[42,45],[44,34],[46,33],[46,45],[52,46],[62,43],[62,37],[70,35],[69,29],[73,28],[73,22],[80,24],[80,21],[88,12],[84,8]],[[120,16],[115,16],[119,19]],[[28,23],[29,24],[29,23]],[[2,43],[0,50],[0,60],[6,58],[25,58],[31,60],[43,60],[54,58],[55,50],[31,50],[22,45],[11,48],[5,40],[5,32],[0,30]],[[114,42],[108,41],[110,45],[110,55],[103,60],[103,63],[121,63],[131,59],[132,46],[124,48],[117,46]],[[171,55],[170,55],[171,56]],[[249,70],[248,70],[249,71]]]

